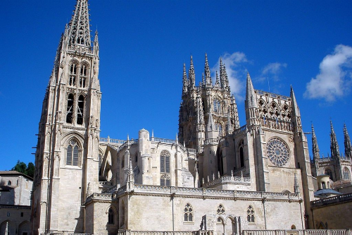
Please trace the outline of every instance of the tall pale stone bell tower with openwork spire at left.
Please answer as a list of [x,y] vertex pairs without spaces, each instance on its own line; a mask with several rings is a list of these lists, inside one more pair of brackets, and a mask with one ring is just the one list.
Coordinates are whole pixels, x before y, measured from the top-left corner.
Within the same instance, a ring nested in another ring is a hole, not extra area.
[[39,121],[32,231],[84,233],[84,201],[98,191],[101,91],[87,0],[61,36]]

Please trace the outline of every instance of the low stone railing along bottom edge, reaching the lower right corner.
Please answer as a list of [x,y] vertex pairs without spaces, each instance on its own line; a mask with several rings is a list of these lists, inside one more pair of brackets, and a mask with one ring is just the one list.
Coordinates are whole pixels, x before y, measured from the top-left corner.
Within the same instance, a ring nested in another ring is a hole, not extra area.
[[242,235],[351,235],[351,229],[243,230]]

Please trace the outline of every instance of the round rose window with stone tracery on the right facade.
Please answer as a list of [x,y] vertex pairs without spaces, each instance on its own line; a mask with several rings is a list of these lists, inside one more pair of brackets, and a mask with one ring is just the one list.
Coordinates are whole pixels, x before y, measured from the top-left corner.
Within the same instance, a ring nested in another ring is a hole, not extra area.
[[277,167],[282,167],[289,161],[289,150],[284,141],[279,138],[269,140],[267,152],[270,161]]

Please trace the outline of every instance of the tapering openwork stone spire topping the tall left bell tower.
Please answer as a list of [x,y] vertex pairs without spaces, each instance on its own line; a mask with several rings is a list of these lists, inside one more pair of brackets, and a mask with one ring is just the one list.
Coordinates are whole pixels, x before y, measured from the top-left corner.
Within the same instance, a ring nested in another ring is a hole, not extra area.
[[88,0],[77,0],[68,30],[70,46],[92,47],[89,30]]

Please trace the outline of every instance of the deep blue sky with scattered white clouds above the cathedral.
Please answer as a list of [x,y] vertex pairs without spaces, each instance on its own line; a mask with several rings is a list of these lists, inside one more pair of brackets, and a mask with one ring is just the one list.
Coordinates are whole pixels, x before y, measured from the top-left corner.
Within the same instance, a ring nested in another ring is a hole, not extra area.
[[[245,124],[246,72],[254,88],[289,95],[303,130],[313,122],[320,152],[329,152],[332,119],[340,151],[343,125],[352,134],[352,1],[98,1],[101,137],[137,138],[146,128],[175,138],[182,66],[194,58],[196,83],[204,54],[215,73],[222,56]],[[58,41],[75,1],[2,1],[0,170],[34,162],[42,100]],[[268,84],[269,80],[269,84]],[[310,138],[309,148],[311,152]]]

